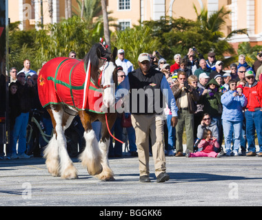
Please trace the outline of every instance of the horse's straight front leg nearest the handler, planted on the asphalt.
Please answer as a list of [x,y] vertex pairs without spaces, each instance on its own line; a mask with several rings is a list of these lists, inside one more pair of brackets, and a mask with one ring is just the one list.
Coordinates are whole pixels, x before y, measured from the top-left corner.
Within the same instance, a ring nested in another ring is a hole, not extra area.
[[[116,114],[108,115],[108,127],[110,129],[112,128],[114,124],[116,116],[117,116]],[[114,180],[114,173],[112,169],[110,168],[109,161],[108,161],[109,144],[110,144],[110,133],[108,132],[108,128],[107,128],[105,120],[102,120],[102,137],[101,137],[101,140],[99,141],[99,148],[102,152],[103,171],[102,173],[97,175],[97,178],[103,181]]]

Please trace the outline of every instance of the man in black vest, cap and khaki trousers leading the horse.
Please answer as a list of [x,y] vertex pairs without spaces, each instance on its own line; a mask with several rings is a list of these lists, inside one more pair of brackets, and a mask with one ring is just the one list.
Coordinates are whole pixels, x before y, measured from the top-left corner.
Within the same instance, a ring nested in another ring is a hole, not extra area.
[[[177,104],[172,90],[165,78],[165,75],[150,67],[150,55],[141,53],[138,57],[139,67],[130,72],[120,83],[118,91],[125,90],[130,94],[126,98],[131,120],[136,134],[136,144],[139,156],[139,181],[150,182],[149,170],[149,144],[148,136],[151,137],[152,155],[154,157],[154,174],[157,182],[164,182],[170,179],[165,172],[165,144],[163,139],[163,100],[168,103],[172,117],[170,124],[177,125]],[[138,93],[139,91],[139,93]],[[144,95],[143,95],[144,94]],[[118,96],[117,96],[118,99]],[[129,102],[128,102],[129,101]]]

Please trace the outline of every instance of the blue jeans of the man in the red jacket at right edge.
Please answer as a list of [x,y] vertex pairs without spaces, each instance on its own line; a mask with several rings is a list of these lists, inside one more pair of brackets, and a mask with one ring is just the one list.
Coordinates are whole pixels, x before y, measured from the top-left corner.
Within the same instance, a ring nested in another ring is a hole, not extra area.
[[245,111],[245,135],[248,140],[248,151],[256,152],[254,134],[259,140],[259,152],[262,152],[262,111]]

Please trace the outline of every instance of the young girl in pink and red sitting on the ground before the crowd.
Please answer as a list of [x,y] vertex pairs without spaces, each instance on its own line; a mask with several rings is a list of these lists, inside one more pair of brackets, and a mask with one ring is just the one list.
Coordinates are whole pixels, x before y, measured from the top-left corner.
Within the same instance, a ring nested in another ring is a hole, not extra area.
[[198,148],[202,148],[202,151],[190,153],[189,149],[187,149],[185,151],[185,157],[221,157],[224,154],[223,150],[220,153],[214,151],[214,148],[219,147],[219,142],[216,141],[216,137],[212,137],[212,131],[210,131],[210,129],[205,129],[203,139],[198,145]]

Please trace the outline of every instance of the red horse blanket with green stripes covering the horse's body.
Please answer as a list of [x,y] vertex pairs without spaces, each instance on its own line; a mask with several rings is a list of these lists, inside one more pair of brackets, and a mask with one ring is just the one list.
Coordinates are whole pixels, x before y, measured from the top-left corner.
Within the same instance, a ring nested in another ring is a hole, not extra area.
[[64,103],[78,110],[101,112],[102,91],[94,86],[91,67],[74,58],[58,57],[43,65],[38,77],[43,107]]

